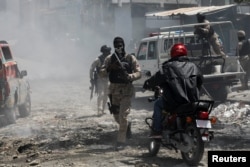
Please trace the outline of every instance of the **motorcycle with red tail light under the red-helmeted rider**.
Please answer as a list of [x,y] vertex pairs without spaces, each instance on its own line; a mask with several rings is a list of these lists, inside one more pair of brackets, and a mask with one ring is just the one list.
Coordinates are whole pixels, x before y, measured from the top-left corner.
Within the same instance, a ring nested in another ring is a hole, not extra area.
[[[148,101],[155,101],[161,95],[161,89],[155,89],[154,98]],[[168,149],[181,151],[182,159],[191,166],[197,165],[203,157],[204,143],[214,138],[211,131],[212,124],[216,123],[216,117],[209,118],[214,101],[199,100],[195,103],[184,104],[174,112],[163,111],[162,137],[150,138],[149,154],[156,156],[160,146]],[[145,119],[151,131],[153,118]]]

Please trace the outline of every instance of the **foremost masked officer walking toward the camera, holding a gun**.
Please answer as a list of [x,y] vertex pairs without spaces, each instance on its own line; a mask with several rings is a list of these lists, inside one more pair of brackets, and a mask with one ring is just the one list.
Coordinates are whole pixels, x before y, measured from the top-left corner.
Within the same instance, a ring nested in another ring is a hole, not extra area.
[[130,113],[131,98],[134,95],[132,82],[141,77],[141,69],[135,56],[126,54],[123,38],[115,37],[115,52],[109,55],[102,68],[109,76],[110,112],[119,124],[116,148],[124,148],[129,137],[130,124],[127,116]]

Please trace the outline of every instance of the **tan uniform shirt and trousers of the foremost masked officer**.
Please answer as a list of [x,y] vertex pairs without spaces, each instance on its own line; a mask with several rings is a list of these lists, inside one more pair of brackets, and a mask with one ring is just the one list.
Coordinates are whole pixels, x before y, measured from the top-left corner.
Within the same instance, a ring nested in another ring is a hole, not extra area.
[[126,132],[128,127],[127,116],[130,113],[131,98],[134,95],[134,86],[132,84],[132,81],[137,80],[141,77],[141,69],[135,56],[125,54],[124,61],[130,62],[129,68],[131,69],[131,72],[128,72],[127,75],[129,82],[124,81],[123,83],[115,83],[111,79],[112,77],[114,77],[112,76],[114,74],[110,72],[110,68],[112,68],[113,71],[118,71],[120,68],[116,65],[114,66],[114,63],[112,63],[112,57],[114,57],[114,54],[109,55],[105,59],[102,72],[107,73],[107,75],[109,75],[109,93],[111,97],[110,101],[112,103],[112,106],[115,106],[115,110],[113,110],[113,116],[115,121],[119,124],[117,142],[125,143]]

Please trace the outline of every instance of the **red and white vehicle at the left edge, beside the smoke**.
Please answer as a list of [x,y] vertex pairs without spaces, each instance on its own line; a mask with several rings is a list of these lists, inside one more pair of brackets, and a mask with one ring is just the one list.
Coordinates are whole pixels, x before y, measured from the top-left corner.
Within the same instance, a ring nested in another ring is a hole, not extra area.
[[0,41],[0,115],[5,117],[0,121],[15,123],[17,111],[20,117],[30,114],[30,85],[24,78],[26,75],[26,70],[19,71],[9,44]]

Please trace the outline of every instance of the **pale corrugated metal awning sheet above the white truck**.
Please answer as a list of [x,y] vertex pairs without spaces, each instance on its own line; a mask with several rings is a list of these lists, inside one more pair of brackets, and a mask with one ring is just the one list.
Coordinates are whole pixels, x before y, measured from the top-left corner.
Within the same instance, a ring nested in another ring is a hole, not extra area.
[[166,16],[175,16],[175,15],[196,15],[197,13],[209,13],[215,12],[219,10],[224,10],[229,7],[235,6],[232,5],[224,5],[224,6],[206,6],[206,7],[188,7],[188,8],[179,8],[175,10],[168,10],[162,12],[154,12],[146,14],[146,17],[166,17]]

